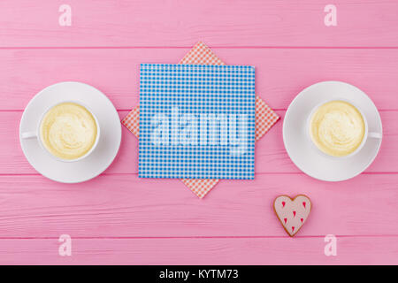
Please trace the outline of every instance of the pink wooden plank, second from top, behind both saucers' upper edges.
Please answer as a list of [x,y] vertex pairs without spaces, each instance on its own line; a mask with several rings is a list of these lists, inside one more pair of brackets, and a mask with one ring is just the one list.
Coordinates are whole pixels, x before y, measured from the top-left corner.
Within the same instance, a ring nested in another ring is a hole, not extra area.
[[[287,109],[320,80],[362,88],[382,110],[398,109],[398,50],[214,49],[231,65],[256,65],[256,93]],[[0,50],[0,110],[22,110],[42,88],[80,80],[101,89],[119,110],[138,103],[139,64],[176,63],[188,49]]]

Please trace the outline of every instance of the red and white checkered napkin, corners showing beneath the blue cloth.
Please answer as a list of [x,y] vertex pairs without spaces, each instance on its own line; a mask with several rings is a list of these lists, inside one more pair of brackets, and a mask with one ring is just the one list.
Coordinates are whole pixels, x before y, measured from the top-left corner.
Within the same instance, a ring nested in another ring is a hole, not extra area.
[[[197,42],[192,50],[182,58],[180,64],[226,65],[203,42]],[[256,141],[278,121],[279,116],[256,96]],[[140,135],[140,106],[135,106],[121,121],[137,138]],[[218,179],[180,179],[197,196],[203,198],[216,186]]]

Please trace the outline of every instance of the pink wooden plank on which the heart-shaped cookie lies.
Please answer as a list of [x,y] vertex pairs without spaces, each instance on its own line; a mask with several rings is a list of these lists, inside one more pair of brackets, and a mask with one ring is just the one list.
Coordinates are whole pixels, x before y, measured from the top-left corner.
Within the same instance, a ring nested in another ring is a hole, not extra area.
[[100,176],[78,185],[39,176],[0,177],[0,238],[285,236],[277,195],[309,195],[298,236],[397,235],[398,175],[327,183],[300,174],[225,180],[200,200],[179,180]]

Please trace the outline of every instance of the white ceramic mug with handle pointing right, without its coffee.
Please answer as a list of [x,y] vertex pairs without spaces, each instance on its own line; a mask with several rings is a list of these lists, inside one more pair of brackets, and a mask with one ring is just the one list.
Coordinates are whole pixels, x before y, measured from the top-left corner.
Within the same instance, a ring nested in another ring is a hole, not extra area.
[[[349,103],[349,104],[353,105],[356,108],[356,110],[361,114],[362,119],[364,120],[364,138],[362,139],[361,144],[356,148],[356,150],[354,150],[353,152],[351,152],[347,156],[343,156],[343,157],[333,157],[331,155],[328,155],[327,153],[325,153],[324,151],[319,149],[318,146],[315,144],[314,141],[312,141],[312,139],[310,137],[310,123],[311,123],[312,115],[315,113],[315,111],[318,110],[318,108],[320,106],[322,106],[325,103],[330,103],[330,102],[333,102],[333,101],[342,101],[342,102],[346,102],[346,103]],[[321,153],[322,155],[324,155],[326,157],[331,157],[331,158],[335,158],[335,159],[336,158],[347,158],[347,157],[355,156],[362,148],[364,148],[364,144],[368,140],[368,138],[372,138],[372,139],[381,139],[382,138],[382,135],[380,133],[370,132],[369,131],[368,121],[367,121],[366,117],[364,116],[364,112],[361,111],[361,109],[359,107],[357,107],[355,103],[352,103],[352,102],[350,102],[350,101],[348,101],[347,99],[344,99],[344,98],[333,98],[333,99],[330,99],[330,100],[325,100],[322,103],[318,103],[314,108],[312,108],[312,110],[310,111],[310,115],[309,115],[309,117],[307,119],[306,133],[307,133],[308,139],[310,140],[312,148],[314,148],[315,150],[318,151],[318,153]]]

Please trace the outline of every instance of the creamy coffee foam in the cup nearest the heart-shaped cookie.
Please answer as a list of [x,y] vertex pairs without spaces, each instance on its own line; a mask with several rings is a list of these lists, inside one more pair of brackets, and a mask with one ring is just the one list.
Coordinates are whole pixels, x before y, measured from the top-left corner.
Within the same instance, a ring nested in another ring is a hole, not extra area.
[[344,101],[322,104],[310,118],[312,142],[333,157],[345,157],[353,153],[364,140],[364,132],[361,112]]

